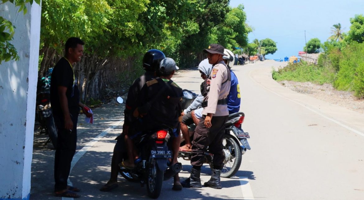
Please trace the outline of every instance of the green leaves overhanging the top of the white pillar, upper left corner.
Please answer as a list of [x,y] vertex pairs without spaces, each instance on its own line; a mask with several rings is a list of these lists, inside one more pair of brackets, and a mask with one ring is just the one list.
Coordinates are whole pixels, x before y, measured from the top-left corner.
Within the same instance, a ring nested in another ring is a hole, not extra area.
[[[18,12],[23,11],[24,14],[27,13],[25,4],[33,4],[33,0],[0,0],[0,5],[8,1],[15,4],[16,7],[19,7]],[[40,4],[40,0],[34,1],[37,4]],[[0,16],[0,64],[2,61],[7,62],[11,59],[19,59],[15,47],[10,42],[13,39],[14,34],[15,26],[13,26],[11,21]]]

